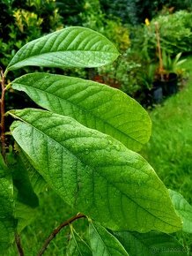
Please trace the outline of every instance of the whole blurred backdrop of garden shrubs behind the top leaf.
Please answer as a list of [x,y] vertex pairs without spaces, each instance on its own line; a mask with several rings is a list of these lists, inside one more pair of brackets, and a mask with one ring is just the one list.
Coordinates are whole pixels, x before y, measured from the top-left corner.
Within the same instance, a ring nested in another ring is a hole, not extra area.
[[[151,88],[158,68],[156,22],[166,55],[174,59],[180,52],[189,55],[192,51],[191,0],[1,0],[0,10],[3,68],[26,42],[66,26],[86,26],[113,41],[121,52],[119,59],[100,69],[51,72],[105,82],[139,102],[141,92]],[[35,70],[40,69],[26,67],[14,76]],[[11,72],[9,79],[14,79]]]

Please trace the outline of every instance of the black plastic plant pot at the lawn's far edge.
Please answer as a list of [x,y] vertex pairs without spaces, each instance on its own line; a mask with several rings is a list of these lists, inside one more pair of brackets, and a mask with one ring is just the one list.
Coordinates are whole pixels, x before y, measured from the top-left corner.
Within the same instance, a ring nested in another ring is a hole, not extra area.
[[176,73],[164,75],[163,79],[156,80],[155,84],[158,87],[162,87],[164,96],[170,96],[178,92],[178,76]]

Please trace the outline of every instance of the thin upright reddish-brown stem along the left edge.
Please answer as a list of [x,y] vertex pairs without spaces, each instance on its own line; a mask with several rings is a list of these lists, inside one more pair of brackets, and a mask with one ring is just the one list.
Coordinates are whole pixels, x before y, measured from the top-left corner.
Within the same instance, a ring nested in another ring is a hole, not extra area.
[[2,155],[5,160],[5,154],[6,154],[6,147],[5,147],[5,124],[4,124],[4,95],[5,95],[5,77],[4,77],[4,71],[1,69],[1,85],[2,85],[2,96],[1,96],[1,149],[2,149]]

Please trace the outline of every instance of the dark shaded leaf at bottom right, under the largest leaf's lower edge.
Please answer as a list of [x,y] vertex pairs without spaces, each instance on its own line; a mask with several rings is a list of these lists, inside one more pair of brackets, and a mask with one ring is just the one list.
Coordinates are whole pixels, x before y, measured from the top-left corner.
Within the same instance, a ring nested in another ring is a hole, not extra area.
[[114,232],[129,256],[187,256],[184,247],[172,236],[151,231],[149,233]]

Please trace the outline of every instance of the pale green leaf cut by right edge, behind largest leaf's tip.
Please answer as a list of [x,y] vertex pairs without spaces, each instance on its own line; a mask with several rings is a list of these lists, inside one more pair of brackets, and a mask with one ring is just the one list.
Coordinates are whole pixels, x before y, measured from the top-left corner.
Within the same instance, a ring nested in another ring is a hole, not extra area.
[[184,232],[192,233],[192,207],[179,192],[169,189],[169,194],[174,203],[176,213],[181,217],[182,230]]

